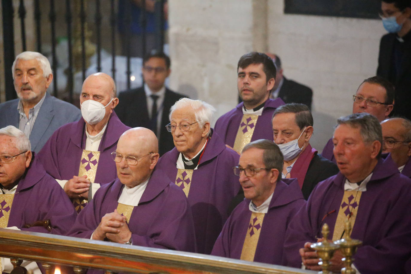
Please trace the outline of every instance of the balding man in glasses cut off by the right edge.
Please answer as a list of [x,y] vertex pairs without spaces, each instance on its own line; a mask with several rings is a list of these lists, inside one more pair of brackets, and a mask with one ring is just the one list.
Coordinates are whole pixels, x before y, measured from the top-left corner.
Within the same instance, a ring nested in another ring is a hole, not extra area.
[[390,153],[399,172],[411,177],[411,121],[391,118],[381,122],[383,153]]

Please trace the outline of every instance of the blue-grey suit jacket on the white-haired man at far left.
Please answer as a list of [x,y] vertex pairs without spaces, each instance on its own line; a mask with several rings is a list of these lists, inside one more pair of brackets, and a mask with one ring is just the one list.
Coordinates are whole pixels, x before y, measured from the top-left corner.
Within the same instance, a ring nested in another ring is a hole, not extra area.
[[[9,125],[18,128],[18,100],[14,99],[0,104],[0,128]],[[79,108],[46,93],[46,98],[44,98],[30,134],[31,150],[39,152],[56,129],[63,124],[78,121],[80,118]]]

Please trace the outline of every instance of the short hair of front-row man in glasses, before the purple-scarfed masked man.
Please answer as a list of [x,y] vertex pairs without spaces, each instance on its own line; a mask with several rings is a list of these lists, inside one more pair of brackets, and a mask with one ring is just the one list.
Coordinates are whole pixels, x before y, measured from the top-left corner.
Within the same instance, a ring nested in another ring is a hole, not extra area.
[[[260,150],[264,150],[263,163],[266,166],[266,168],[276,168],[279,172],[282,172],[284,157],[277,144],[275,144],[273,141],[266,139],[255,140],[245,145],[241,153],[251,148],[258,148]],[[281,176],[278,176],[277,182],[280,179]]]

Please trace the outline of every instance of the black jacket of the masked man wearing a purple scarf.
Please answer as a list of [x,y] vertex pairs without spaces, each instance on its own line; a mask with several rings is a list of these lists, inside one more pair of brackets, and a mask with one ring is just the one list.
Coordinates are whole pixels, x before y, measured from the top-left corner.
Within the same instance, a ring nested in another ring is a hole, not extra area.
[[308,199],[311,191],[319,182],[334,176],[338,172],[339,169],[335,163],[316,154],[308,166],[307,174],[305,174],[304,183],[302,184],[301,191],[304,199]]

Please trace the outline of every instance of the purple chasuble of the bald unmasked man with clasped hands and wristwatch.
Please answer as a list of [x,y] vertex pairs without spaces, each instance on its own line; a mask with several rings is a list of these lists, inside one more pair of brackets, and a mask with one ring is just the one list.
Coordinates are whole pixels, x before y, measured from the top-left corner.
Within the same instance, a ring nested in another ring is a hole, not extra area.
[[[123,187],[119,179],[100,187],[77,216],[69,235],[90,239],[102,217],[117,209]],[[196,252],[187,198],[158,168],[152,173],[139,205],[134,207],[128,227],[133,245]]]

